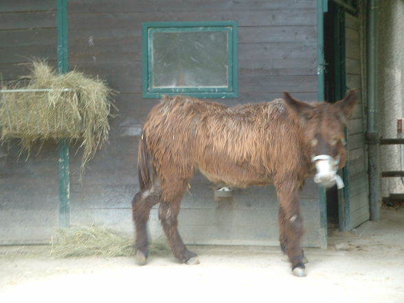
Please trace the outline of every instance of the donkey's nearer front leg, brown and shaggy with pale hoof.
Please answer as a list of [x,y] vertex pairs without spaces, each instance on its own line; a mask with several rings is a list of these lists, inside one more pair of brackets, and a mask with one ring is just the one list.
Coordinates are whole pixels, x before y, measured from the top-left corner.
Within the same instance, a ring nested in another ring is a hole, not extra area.
[[304,255],[300,240],[303,236],[303,220],[300,214],[299,188],[287,182],[276,186],[282,216],[280,216],[280,240],[292,265],[295,276],[306,276]]

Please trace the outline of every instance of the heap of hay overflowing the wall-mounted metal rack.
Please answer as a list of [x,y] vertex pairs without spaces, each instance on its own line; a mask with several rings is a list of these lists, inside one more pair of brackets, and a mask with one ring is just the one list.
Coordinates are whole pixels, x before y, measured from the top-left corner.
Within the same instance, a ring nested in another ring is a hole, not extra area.
[[[29,155],[34,142],[81,140],[82,177],[85,164],[108,139],[113,90],[103,80],[80,71],[60,75],[40,60],[32,61],[28,68],[28,76],[3,87],[23,89],[23,92],[0,94],[0,142],[17,138]],[[49,91],[28,91],[38,89]]]

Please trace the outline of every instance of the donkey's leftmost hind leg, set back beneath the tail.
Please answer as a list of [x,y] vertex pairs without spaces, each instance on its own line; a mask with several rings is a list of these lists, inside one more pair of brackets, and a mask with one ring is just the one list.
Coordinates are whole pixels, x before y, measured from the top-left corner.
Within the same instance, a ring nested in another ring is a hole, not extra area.
[[132,200],[132,218],[135,223],[136,240],[135,249],[137,263],[145,265],[148,258],[148,234],[147,221],[150,209],[153,205],[159,203],[159,190],[142,190],[135,194]]

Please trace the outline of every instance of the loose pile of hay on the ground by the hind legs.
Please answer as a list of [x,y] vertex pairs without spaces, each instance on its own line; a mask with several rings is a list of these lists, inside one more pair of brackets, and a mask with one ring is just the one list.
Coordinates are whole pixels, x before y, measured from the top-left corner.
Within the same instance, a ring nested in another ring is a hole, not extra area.
[[[123,257],[134,256],[133,239],[111,229],[91,225],[60,229],[50,244],[50,255],[55,258],[81,258],[89,256]],[[163,243],[150,245],[150,254],[169,254]]]

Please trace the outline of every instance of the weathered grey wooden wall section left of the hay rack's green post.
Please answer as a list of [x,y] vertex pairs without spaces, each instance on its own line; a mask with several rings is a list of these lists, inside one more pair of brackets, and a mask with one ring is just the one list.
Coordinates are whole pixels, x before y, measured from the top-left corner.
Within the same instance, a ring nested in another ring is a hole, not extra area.
[[[27,74],[19,64],[32,56],[56,65],[56,38],[56,1],[0,1],[0,80]],[[0,146],[0,244],[49,242],[58,226],[56,144],[28,161],[18,155],[16,142]]]

